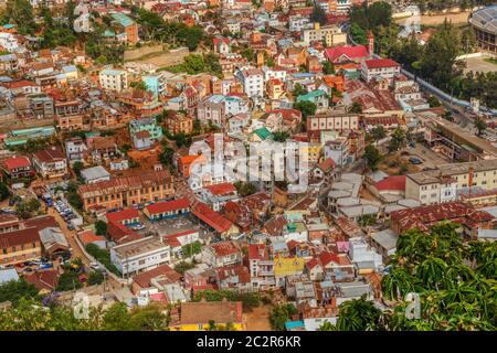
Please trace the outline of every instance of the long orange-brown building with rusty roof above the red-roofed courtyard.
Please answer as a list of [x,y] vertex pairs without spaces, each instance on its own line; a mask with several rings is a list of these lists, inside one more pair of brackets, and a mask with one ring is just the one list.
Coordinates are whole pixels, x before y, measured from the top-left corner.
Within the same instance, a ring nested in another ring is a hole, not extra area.
[[169,199],[175,182],[168,171],[154,171],[81,185],[78,192],[85,211],[112,210]]

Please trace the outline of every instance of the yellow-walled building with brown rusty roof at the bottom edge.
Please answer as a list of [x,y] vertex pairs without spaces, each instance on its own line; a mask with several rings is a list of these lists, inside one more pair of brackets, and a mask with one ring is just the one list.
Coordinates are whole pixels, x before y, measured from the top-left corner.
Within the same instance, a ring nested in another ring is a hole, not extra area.
[[171,330],[175,331],[208,331],[211,323],[220,327],[230,325],[232,330],[244,331],[243,310],[241,301],[199,301],[182,302],[181,307],[171,312]]

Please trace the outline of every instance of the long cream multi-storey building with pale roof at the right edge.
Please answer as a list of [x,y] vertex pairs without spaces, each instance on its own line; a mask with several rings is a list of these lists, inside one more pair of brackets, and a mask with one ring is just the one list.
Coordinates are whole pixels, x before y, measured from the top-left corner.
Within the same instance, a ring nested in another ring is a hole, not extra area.
[[469,186],[491,191],[497,189],[497,159],[442,164],[436,170],[408,174],[405,197],[429,205],[458,199],[458,192]]

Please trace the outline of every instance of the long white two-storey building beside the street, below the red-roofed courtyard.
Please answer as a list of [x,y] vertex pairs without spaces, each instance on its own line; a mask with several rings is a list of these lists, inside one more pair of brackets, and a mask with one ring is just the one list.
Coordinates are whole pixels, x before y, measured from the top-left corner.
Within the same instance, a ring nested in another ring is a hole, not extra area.
[[123,276],[149,270],[170,261],[170,248],[154,236],[133,240],[110,249],[110,261]]

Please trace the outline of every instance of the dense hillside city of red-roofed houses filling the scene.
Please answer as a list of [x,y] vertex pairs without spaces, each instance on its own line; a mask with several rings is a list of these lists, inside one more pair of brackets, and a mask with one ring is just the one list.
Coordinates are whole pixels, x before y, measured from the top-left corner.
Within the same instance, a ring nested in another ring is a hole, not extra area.
[[[372,31],[353,42],[362,3],[75,1],[74,31],[106,25],[98,45],[125,49],[114,62],[42,45],[46,18],[0,26],[0,286],[158,302],[172,331],[269,330],[271,308],[292,303],[283,329],[317,331],[347,301],[387,309],[405,232],[452,221],[495,240],[494,132],[473,126],[475,101],[451,110],[378,55]],[[59,2],[31,4],[61,21]],[[200,26],[201,43],[157,49],[150,14]],[[307,163],[277,179],[288,159]]]

